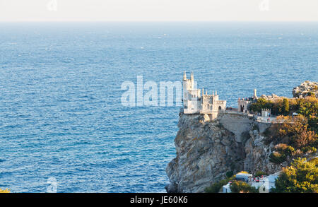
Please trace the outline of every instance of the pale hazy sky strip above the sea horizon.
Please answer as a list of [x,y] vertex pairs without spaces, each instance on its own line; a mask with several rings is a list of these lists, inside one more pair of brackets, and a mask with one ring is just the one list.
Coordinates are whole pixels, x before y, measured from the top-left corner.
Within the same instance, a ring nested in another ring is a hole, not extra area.
[[318,21],[318,0],[0,0],[0,21]]

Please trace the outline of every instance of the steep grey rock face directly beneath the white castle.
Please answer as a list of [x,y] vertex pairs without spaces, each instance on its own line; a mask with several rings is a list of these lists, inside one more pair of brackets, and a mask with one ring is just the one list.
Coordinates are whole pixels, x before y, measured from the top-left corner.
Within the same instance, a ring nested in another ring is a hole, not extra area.
[[281,170],[281,165],[269,162],[271,146],[261,136],[268,126],[238,114],[220,114],[211,121],[208,115],[180,112],[177,157],[166,168],[167,191],[204,192],[228,171]]

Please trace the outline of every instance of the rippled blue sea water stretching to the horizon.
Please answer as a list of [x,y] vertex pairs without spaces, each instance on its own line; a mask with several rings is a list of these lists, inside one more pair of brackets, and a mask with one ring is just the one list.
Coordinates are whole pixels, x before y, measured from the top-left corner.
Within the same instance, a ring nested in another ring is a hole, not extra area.
[[317,57],[318,23],[0,23],[0,188],[163,192],[179,107],[124,107],[124,81],[193,71],[236,107],[318,81]]

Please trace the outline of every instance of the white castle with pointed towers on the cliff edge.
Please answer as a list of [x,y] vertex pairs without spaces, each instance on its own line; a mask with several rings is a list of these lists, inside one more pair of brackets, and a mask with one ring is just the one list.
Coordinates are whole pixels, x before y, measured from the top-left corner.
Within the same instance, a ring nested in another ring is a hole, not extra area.
[[226,100],[218,100],[218,94],[208,95],[207,91],[202,94],[200,89],[194,88],[194,75],[187,79],[187,73],[183,74],[183,112],[184,114],[209,114],[214,119],[218,112],[226,110]]

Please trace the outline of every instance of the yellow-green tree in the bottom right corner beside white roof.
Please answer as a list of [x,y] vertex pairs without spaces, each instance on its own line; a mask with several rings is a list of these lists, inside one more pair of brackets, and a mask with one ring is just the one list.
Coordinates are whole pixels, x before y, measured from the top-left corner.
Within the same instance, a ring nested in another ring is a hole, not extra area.
[[298,158],[290,167],[283,168],[281,175],[275,181],[276,193],[317,193],[318,168],[317,160],[307,162]]

